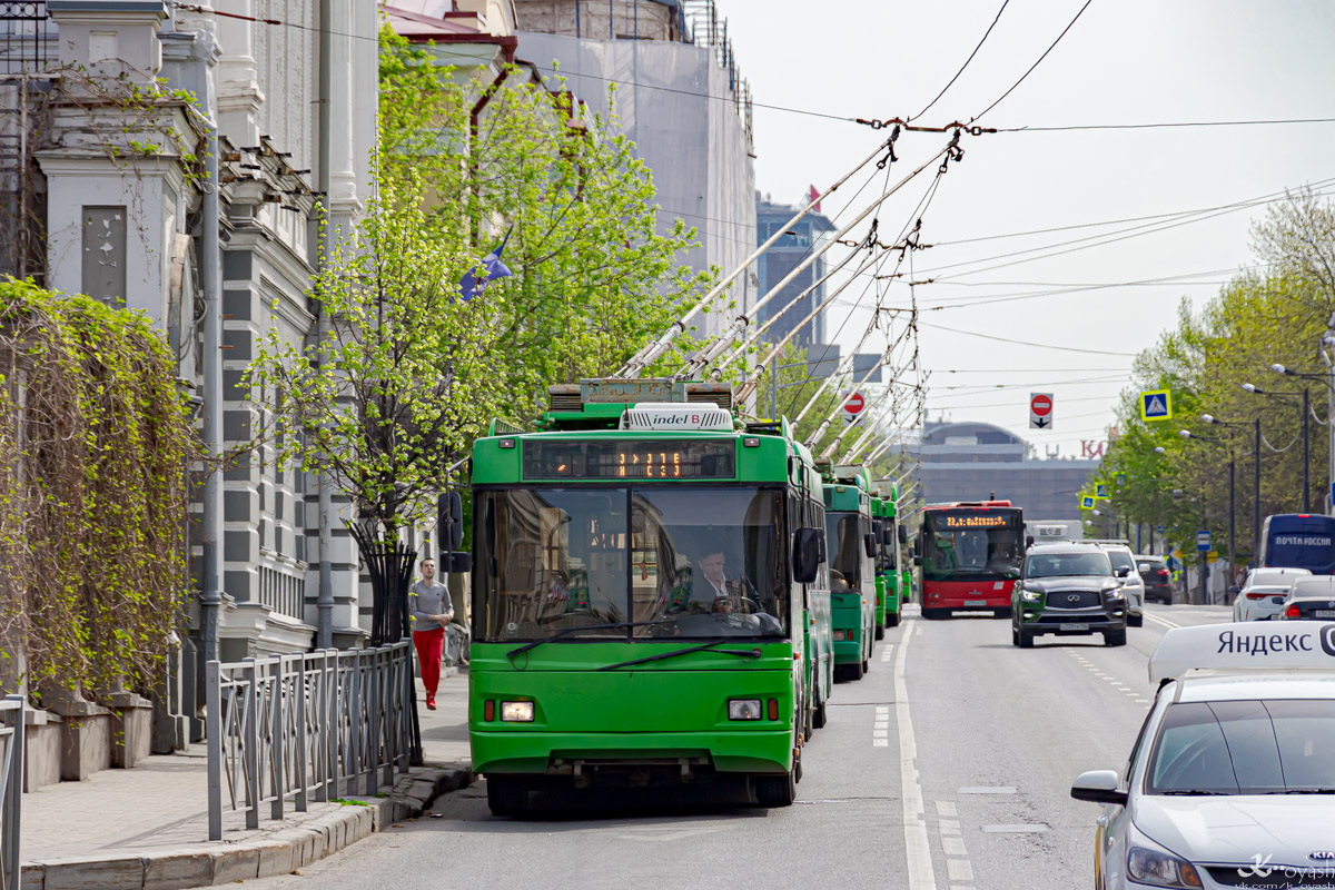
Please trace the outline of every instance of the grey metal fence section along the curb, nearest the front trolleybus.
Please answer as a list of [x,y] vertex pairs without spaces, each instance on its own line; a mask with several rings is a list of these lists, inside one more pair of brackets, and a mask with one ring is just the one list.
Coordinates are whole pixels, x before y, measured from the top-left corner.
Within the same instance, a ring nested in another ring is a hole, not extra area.
[[409,770],[413,651],[407,640],[364,650],[208,662],[208,839],[223,807],[282,819],[342,794],[374,795]]

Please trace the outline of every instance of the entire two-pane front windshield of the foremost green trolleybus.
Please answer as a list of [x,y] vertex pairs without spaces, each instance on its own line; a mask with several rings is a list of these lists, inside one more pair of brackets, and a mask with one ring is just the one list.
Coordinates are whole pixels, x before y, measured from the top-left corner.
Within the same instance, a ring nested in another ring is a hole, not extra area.
[[782,504],[756,487],[479,491],[474,636],[785,636]]

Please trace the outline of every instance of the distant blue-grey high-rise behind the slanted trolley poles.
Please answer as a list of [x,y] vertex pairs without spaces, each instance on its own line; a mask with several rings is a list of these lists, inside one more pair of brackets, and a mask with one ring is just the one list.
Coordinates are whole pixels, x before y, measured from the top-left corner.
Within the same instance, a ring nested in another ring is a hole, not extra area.
[[[760,192],[756,193],[756,244],[764,244],[780,227],[785,226],[788,220],[797,215],[798,207],[792,207],[789,204],[774,204],[768,200],[768,197],[761,197]],[[756,291],[758,296],[769,294],[769,290],[778,284],[784,278],[793,271],[794,267],[800,266],[802,260],[810,256],[820,246],[820,240],[825,238],[830,231],[833,231],[833,223],[818,212],[810,212],[798,221],[793,223],[785,230],[785,235],[778,239],[773,247],[765,251],[757,266],[757,278],[760,284]],[[802,270],[797,278],[794,278],[784,290],[769,300],[760,310],[761,324],[769,322],[772,318],[778,315],[778,320],[774,322],[765,332],[765,339],[770,343],[777,343],[778,340],[788,336],[788,334],[802,323],[806,316],[809,316],[817,306],[825,299],[825,286],[821,284],[814,291],[804,296],[798,303],[789,307],[793,299],[809,288],[812,282],[820,280],[825,275],[825,259],[818,258],[814,263]],[[825,342],[825,312],[816,314],[816,318],[806,323],[797,336],[792,340],[796,346],[802,348],[809,347],[812,343]]]

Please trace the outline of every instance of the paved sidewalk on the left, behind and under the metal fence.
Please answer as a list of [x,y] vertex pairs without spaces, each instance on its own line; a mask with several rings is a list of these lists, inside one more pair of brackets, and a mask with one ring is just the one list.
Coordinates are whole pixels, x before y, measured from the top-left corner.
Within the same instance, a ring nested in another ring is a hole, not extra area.
[[[394,797],[409,803],[423,802],[431,787],[429,783],[435,783],[434,790],[438,791],[442,787],[445,790],[459,787],[471,781],[471,774],[467,773],[470,762],[467,673],[451,673],[442,678],[435,711],[426,710],[423,702],[422,683],[418,681],[423,759],[426,767],[434,769],[413,770],[410,777],[399,779]],[[278,847],[294,829],[304,830],[304,835],[310,835],[312,829],[322,833],[327,841],[324,846],[332,851],[382,827],[375,823],[374,813],[356,818],[355,810],[364,811],[366,807],[312,802],[307,813],[292,813],[288,803],[286,819],[274,822],[262,818],[258,830],[244,827],[242,813],[224,810],[223,839],[210,843],[207,795],[208,757],[204,743],[192,746],[186,754],[150,757],[132,770],[104,770],[95,773],[87,782],[61,782],[24,794],[20,827],[25,890],[29,887],[56,890],[64,886],[140,887],[142,883],[136,879],[127,879],[125,883],[119,879],[111,882],[87,879],[93,874],[111,877],[115,869],[108,870],[105,866],[112,861],[123,861],[129,870],[134,870],[134,862],[139,859],[143,873],[143,869],[150,867],[150,861],[160,861],[163,866],[170,866],[171,859],[180,858],[176,854],[194,857],[196,861],[203,854],[203,859],[208,861],[211,851],[230,850],[238,845],[247,849]],[[388,798],[382,802],[387,803]],[[224,806],[226,803],[224,795]],[[402,807],[387,809],[379,813],[379,817],[395,821],[403,818],[398,815],[399,811]],[[267,809],[262,815],[268,815]],[[364,822],[362,826],[364,831],[354,831],[350,827],[331,830],[343,822]],[[258,862],[259,854],[252,858]],[[47,867],[28,867],[37,863],[45,863]],[[291,866],[295,867],[299,865]],[[243,877],[255,877],[246,866],[242,867],[242,873]],[[39,875],[44,875],[45,879]],[[228,882],[235,879],[231,871],[226,877]],[[198,885],[146,881],[143,886]]]

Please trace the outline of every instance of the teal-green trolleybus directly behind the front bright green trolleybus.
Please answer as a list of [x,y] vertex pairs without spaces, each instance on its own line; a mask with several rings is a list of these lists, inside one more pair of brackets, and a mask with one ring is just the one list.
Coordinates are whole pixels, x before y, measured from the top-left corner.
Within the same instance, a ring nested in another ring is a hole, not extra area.
[[870,474],[862,467],[826,467],[824,478],[834,669],[856,681],[872,666],[876,631]]

